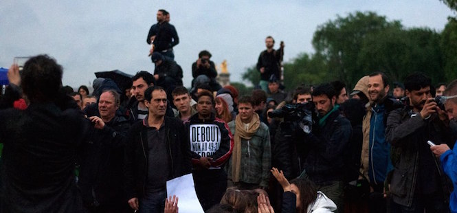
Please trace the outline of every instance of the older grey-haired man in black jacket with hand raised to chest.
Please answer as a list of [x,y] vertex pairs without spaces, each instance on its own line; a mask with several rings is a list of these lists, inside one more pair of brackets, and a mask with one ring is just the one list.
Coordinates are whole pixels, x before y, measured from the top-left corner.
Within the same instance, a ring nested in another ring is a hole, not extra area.
[[124,140],[130,122],[116,115],[120,95],[104,91],[98,100],[99,116],[91,116],[93,127],[89,142],[82,148],[78,185],[89,212],[126,212],[122,164]]

